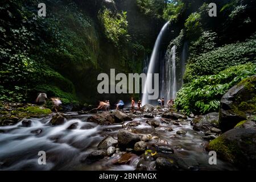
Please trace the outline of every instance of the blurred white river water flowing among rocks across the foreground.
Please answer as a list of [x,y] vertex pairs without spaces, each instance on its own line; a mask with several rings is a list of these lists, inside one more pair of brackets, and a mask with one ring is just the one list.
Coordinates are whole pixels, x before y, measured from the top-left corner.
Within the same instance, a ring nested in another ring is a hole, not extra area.
[[[147,155],[134,155],[129,164],[113,164],[123,154],[118,151],[97,162],[81,162],[82,158],[97,150],[98,143],[106,136],[117,139],[118,130],[122,129],[123,125],[117,123],[101,126],[86,122],[90,115],[76,112],[64,114],[68,118],[67,122],[59,126],[49,123],[54,115],[52,114],[44,118],[31,118],[30,127],[23,127],[22,121],[13,126],[0,127],[0,170],[134,170],[139,165],[147,170],[155,170],[155,160]],[[143,117],[135,118],[134,121],[141,124],[133,129],[137,133],[156,136],[155,140],[147,142],[147,147],[152,151],[155,150],[155,145],[171,147],[174,154],[163,152],[161,155],[167,158],[171,155],[181,166],[191,170],[234,169],[229,163],[221,160],[217,160],[217,165],[209,164],[210,156],[205,151],[207,141],[203,140],[204,133],[192,129],[191,119],[179,122],[179,125],[172,125],[172,122],[155,117],[154,120],[160,123],[156,128],[148,125],[147,120]],[[72,124],[76,129],[68,129]],[[176,134],[179,130],[186,133]],[[39,151],[46,152],[46,165],[38,164]]]

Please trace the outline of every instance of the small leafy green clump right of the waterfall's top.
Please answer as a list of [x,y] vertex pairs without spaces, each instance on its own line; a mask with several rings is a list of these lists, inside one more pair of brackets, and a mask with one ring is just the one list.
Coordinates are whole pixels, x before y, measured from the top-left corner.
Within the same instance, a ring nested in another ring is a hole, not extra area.
[[188,36],[193,37],[199,35],[203,31],[200,20],[201,15],[199,13],[192,13],[188,16],[185,20],[185,28]]

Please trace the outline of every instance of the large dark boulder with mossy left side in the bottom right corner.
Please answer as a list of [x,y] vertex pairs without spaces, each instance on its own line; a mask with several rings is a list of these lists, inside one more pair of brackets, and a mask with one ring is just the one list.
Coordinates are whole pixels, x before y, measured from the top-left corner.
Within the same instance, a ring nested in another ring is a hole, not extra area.
[[236,128],[226,131],[209,143],[208,150],[216,151],[240,169],[256,169],[256,130]]

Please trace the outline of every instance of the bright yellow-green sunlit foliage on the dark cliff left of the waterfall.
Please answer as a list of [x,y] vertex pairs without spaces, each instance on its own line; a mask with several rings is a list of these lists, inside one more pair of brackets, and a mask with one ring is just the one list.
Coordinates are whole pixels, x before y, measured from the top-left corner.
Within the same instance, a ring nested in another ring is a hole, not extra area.
[[104,25],[106,37],[112,41],[115,46],[118,46],[120,42],[129,41],[126,12],[113,14],[110,10],[105,9],[103,13],[100,13],[100,18]]

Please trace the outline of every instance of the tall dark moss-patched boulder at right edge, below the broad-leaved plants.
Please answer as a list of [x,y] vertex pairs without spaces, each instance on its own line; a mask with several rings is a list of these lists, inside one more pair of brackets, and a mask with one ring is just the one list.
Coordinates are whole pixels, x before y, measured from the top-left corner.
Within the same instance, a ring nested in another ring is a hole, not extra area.
[[246,120],[246,114],[256,111],[256,75],[234,85],[220,101],[220,129],[225,132],[233,129],[237,123]]

